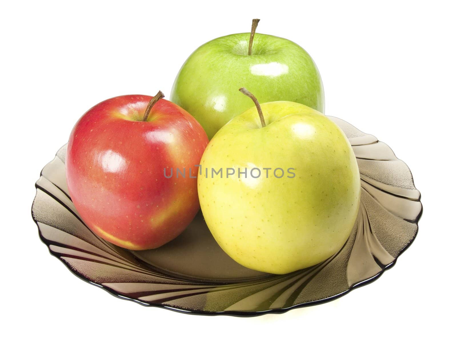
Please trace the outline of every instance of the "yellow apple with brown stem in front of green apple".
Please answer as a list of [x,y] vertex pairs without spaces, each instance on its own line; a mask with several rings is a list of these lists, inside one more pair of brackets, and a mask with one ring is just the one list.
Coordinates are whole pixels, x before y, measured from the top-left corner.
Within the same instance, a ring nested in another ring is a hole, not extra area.
[[241,265],[285,274],[347,241],[360,201],[342,130],[305,105],[266,102],[229,121],[202,155],[198,196],[215,240]]

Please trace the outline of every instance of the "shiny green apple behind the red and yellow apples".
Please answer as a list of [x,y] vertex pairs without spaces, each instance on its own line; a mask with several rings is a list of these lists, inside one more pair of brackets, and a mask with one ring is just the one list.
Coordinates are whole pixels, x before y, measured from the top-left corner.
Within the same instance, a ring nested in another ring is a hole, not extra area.
[[176,76],[171,101],[202,124],[209,139],[230,119],[252,107],[238,89],[260,103],[287,100],[324,113],[324,87],[308,53],[287,39],[256,33],[214,39],[191,54]]

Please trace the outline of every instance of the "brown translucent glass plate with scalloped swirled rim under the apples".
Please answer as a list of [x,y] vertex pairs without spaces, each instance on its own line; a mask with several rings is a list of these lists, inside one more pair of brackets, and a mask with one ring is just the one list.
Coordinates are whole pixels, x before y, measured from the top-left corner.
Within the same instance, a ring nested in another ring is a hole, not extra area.
[[68,195],[65,149],[36,183],[33,220],[42,241],[80,278],[122,299],[197,314],[255,316],[335,299],[392,267],[417,234],[420,193],[408,166],[374,136],[329,117],[345,132],[361,176],[361,204],[345,246],[323,263],[286,275],[234,262],[214,241],[202,214],[181,236],[133,252],[94,235]]

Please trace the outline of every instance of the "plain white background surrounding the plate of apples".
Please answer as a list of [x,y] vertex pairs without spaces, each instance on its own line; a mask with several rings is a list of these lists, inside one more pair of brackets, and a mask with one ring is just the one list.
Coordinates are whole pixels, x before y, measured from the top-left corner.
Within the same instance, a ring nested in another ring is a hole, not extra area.
[[[7,341],[447,341],[455,326],[456,9],[452,1],[5,1],[1,39],[1,313]],[[300,44],[326,114],[390,145],[422,193],[419,234],[392,269],[339,300],[255,318],[119,300],[39,240],[34,182],[76,120],[117,95],[168,97],[191,52],[250,31]],[[6,342],[6,341],[5,341]]]

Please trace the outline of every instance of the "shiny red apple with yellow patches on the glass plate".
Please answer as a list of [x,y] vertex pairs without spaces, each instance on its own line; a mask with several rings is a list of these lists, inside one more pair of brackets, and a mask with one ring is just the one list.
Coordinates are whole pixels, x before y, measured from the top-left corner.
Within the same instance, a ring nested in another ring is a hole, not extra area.
[[[108,99],[87,111],[70,135],[70,197],[85,224],[117,246],[145,250],[178,236],[199,209],[198,165],[208,139],[185,110],[151,96]],[[176,168],[186,177],[175,177]],[[164,177],[164,168],[170,176]]]

